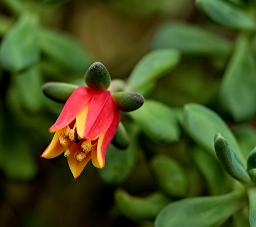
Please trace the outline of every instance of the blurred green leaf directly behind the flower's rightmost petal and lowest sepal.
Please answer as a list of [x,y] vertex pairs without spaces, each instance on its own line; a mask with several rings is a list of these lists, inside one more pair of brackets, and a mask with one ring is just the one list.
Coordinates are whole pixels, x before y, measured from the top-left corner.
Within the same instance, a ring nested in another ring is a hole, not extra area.
[[104,169],[98,169],[100,177],[107,184],[122,184],[130,176],[135,165],[139,130],[135,124],[127,125],[126,129],[131,139],[129,147],[118,149],[110,144],[106,152],[106,166]]

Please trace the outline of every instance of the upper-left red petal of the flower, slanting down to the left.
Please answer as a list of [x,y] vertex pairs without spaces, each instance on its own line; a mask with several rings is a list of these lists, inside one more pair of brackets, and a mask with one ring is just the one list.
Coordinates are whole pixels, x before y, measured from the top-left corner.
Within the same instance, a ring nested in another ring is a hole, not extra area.
[[49,132],[56,132],[73,121],[77,114],[79,114],[82,108],[84,108],[86,103],[90,100],[92,94],[93,90],[88,87],[77,88],[65,103],[57,121],[53,126],[51,126]]

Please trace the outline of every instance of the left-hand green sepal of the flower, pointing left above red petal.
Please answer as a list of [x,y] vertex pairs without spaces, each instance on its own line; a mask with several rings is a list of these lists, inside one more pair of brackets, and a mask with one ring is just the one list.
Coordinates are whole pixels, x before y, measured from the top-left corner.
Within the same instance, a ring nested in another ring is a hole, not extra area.
[[48,82],[42,86],[44,94],[57,102],[66,102],[79,86],[69,83]]

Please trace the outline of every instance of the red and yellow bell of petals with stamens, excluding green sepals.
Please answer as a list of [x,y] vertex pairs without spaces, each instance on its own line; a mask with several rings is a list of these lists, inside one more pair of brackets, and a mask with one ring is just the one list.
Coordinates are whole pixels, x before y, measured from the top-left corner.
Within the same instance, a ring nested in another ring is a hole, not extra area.
[[107,148],[120,122],[120,113],[110,91],[78,87],[68,98],[57,121],[55,132],[40,157],[54,158],[64,152],[76,179],[92,159],[104,168]]

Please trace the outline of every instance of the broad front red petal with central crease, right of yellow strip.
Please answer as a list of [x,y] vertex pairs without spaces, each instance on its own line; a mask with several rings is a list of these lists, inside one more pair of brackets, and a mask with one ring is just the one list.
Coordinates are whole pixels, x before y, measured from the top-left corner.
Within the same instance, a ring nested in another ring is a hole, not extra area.
[[94,91],[88,110],[84,136],[87,140],[96,140],[111,125],[115,111],[114,100],[109,91]]

